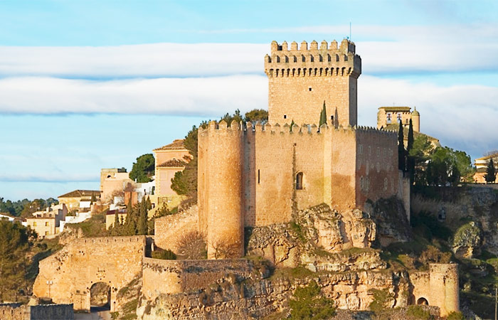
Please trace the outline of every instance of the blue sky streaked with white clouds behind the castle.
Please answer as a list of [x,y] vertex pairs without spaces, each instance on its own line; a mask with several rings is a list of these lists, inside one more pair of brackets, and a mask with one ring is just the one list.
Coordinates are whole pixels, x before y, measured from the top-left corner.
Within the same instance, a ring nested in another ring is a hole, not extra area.
[[[202,119],[267,105],[276,40],[361,55],[359,124],[416,105],[472,158],[498,149],[498,1],[0,0],[0,197],[99,187]],[[489,122],[489,124],[487,123]]]

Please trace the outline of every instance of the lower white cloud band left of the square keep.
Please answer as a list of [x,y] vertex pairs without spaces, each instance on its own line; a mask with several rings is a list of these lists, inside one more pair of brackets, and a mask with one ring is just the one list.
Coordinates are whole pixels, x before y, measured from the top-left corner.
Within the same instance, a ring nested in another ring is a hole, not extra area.
[[112,81],[58,78],[0,80],[0,112],[180,114],[219,117],[225,110],[267,106],[260,75]]

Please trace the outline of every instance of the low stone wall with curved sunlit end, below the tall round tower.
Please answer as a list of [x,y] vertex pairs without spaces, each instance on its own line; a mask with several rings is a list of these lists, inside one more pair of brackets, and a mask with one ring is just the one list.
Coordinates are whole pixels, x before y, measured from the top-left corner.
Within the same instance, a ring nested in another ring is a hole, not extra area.
[[142,293],[154,300],[160,294],[179,294],[208,287],[219,279],[252,277],[251,262],[238,260],[159,260],[144,257]]

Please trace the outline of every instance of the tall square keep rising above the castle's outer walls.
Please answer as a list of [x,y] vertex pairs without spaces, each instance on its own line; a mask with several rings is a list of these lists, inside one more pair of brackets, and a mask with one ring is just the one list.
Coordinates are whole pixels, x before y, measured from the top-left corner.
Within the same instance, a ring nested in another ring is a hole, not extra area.
[[292,42],[271,44],[265,56],[268,76],[268,122],[314,124],[319,122],[323,103],[327,106],[327,120],[346,127],[356,125],[357,80],[361,74],[361,58],[354,43],[337,41],[306,41],[297,48]]

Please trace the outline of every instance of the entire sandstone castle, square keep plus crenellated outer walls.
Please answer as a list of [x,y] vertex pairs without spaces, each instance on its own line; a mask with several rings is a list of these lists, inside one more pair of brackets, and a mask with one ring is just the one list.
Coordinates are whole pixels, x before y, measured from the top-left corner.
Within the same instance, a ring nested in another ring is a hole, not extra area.
[[[288,222],[293,210],[319,203],[365,210],[367,200],[398,196],[409,205],[397,134],[356,126],[354,43],[293,42],[288,50],[273,41],[265,73],[267,124],[210,122],[198,132],[198,224],[208,257],[218,242],[243,255],[245,227]],[[323,105],[327,123],[317,127]]]

